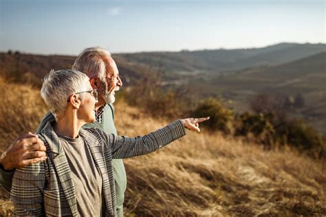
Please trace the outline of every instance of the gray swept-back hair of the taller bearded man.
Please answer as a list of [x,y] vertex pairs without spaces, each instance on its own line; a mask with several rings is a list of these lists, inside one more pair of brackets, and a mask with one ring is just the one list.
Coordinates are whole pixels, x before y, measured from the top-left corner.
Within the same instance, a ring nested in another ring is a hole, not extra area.
[[105,82],[106,70],[111,70],[108,57],[111,54],[100,47],[91,47],[83,50],[72,65],[72,70],[85,73],[89,78],[98,77]]

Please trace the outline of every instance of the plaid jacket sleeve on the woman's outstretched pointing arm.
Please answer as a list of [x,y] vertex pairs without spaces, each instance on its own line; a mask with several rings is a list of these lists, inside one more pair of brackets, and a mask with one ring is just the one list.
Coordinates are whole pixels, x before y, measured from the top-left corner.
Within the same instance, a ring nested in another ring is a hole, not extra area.
[[105,138],[109,149],[112,151],[112,158],[131,158],[154,152],[184,135],[186,135],[184,124],[181,121],[175,121],[145,136],[130,138],[106,134]]

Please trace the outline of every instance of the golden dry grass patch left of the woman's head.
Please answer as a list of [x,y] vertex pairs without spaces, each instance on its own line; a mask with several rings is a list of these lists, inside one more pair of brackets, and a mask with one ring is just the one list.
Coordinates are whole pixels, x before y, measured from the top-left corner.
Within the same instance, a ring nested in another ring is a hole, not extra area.
[[23,132],[35,131],[47,111],[40,91],[0,77],[0,151]]

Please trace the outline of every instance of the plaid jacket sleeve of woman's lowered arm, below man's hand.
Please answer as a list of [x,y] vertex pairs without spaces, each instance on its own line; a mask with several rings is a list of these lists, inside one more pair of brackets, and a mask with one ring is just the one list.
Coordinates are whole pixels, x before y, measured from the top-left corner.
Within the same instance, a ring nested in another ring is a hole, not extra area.
[[45,162],[16,169],[10,197],[15,216],[44,216]]

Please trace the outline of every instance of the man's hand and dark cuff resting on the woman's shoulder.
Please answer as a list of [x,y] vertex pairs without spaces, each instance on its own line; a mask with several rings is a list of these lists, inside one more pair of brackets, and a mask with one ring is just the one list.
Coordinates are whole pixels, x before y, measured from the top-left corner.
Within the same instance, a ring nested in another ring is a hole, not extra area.
[[45,146],[38,136],[31,132],[20,136],[1,154],[0,184],[9,192],[14,169],[38,163],[45,159]]

